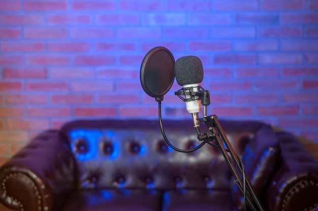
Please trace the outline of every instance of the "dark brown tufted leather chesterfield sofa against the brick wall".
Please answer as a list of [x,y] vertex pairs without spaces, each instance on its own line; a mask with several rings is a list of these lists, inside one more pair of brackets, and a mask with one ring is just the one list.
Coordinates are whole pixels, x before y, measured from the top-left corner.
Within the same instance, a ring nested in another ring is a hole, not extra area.
[[[294,135],[219,122],[266,210],[317,206],[318,163]],[[190,121],[163,125],[175,147],[200,144]],[[233,181],[218,148],[176,152],[157,121],[77,120],[42,132],[1,166],[0,202],[24,211],[243,210]]]

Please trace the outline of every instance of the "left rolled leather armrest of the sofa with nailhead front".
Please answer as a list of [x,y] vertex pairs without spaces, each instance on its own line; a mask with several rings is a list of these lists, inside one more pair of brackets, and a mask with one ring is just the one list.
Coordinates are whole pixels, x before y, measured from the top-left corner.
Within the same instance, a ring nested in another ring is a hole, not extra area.
[[0,167],[0,202],[17,210],[60,210],[75,187],[65,135],[48,130]]

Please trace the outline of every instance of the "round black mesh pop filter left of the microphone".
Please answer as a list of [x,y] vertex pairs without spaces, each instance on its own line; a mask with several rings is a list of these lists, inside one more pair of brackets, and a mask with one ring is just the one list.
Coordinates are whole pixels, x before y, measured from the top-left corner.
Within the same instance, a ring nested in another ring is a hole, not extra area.
[[174,81],[174,57],[165,47],[155,47],[148,51],[140,68],[140,82],[151,97],[163,97]]

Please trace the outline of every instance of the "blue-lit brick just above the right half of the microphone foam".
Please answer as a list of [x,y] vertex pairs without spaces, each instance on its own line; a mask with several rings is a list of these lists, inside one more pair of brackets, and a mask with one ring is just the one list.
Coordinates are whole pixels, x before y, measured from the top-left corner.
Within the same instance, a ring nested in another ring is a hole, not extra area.
[[230,51],[231,41],[189,41],[191,51]]

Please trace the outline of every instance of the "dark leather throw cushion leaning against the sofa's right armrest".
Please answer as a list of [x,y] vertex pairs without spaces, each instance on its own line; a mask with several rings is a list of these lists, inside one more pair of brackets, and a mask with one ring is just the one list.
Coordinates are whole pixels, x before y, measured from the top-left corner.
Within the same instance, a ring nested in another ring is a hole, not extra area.
[[[271,180],[270,175],[275,168],[278,155],[277,138],[269,125],[262,126],[251,137],[250,142],[246,143],[243,154],[239,155],[244,165],[245,175],[260,198],[264,194],[265,186]],[[244,200],[241,191],[235,183],[233,183],[232,188],[234,207],[238,210],[244,210]]]

